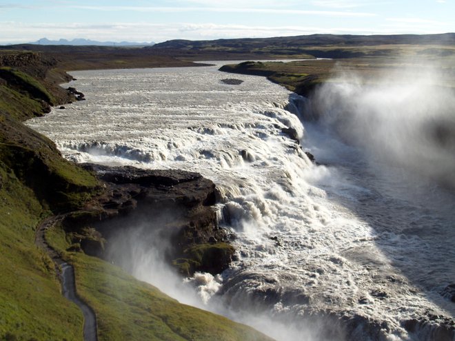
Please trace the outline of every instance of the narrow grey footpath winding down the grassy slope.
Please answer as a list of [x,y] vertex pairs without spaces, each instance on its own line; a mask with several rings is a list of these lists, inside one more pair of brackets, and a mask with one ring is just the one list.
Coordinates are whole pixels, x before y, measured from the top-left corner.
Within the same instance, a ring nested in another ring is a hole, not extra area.
[[61,279],[61,289],[63,296],[71,300],[83,313],[84,323],[83,323],[83,340],[84,341],[97,341],[98,340],[98,331],[97,331],[97,316],[95,315],[93,309],[88,306],[76,291],[76,280],[74,278],[74,267],[65,262],[57,252],[50,247],[47,240],[45,239],[45,231],[50,227],[54,226],[56,223],[63,220],[64,216],[52,216],[43,220],[37,229],[35,234],[35,244],[46,251],[46,253],[52,258],[52,261],[55,264],[55,269]]

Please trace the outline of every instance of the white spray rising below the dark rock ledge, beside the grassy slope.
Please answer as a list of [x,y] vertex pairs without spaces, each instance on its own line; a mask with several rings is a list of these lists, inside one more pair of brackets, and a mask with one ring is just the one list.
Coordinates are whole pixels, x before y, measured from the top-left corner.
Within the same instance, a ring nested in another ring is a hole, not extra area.
[[300,308],[291,309],[282,304],[270,307],[264,304],[264,296],[250,292],[247,287],[238,297],[223,295],[227,273],[212,276],[196,272],[190,278],[183,278],[166,258],[171,240],[162,223],[165,220],[164,215],[153,221],[144,217],[123,220],[124,228],[108,240],[105,258],[183,304],[250,325],[275,340],[345,340],[341,321],[336,318],[299,316]]

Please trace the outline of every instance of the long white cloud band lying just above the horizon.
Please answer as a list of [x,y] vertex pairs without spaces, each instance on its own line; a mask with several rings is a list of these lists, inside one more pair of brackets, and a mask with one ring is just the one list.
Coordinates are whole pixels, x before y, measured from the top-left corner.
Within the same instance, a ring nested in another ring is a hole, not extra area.
[[209,40],[244,37],[285,37],[301,34],[394,34],[408,32],[403,28],[370,27],[325,28],[316,25],[220,25],[217,23],[0,23],[0,44],[28,43],[40,38],[74,39],[97,41],[167,41],[170,39]]

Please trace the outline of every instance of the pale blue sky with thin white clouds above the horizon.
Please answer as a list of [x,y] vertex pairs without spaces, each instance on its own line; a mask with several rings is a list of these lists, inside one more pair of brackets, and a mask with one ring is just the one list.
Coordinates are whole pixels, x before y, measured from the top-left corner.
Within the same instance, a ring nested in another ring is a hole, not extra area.
[[9,0],[0,44],[455,32],[455,0]]

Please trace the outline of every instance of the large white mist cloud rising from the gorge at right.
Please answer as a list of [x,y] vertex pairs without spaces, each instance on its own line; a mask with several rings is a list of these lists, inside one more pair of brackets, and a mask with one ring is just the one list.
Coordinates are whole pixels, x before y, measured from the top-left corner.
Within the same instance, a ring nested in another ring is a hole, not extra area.
[[452,71],[422,61],[400,65],[371,77],[338,68],[315,92],[310,118],[361,149],[383,174],[396,171],[410,183],[453,189],[455,90],[447,84]]

